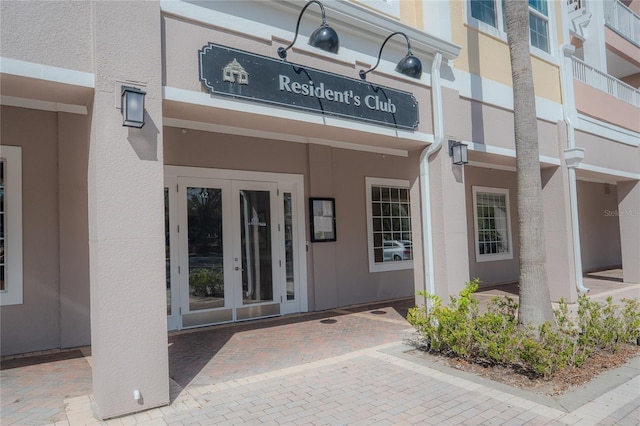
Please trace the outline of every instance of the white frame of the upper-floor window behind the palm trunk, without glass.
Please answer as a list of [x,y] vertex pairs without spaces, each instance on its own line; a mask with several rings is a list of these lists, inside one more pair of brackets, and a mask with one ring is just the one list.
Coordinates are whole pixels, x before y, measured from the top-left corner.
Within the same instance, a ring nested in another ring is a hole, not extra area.
[[[495,13],[496,13],[496,26],[492,26],[480,19],[474,18],[471,16],[471,2],[473,0],[466,0],[465,4],[465,16],[467,18],[467,24],[473,28],[477,28],[483,33],[487,33],[490,36],[497,38],[499,40],[507,42],[507,30],[506,30],[506,22],[504,21],[504,0],[493,0],[495,5]],[[531,14],[535,15],[537,18],[541,18],[546,20],[547,23],[547,43],[549,51],[544,51],[534,45],[531,44],[531,28],[529,29],[529,51],[531,54],[544,59],[546,61],[550,61],[552,63],[556,63],[556,54],[554,52],[553,46],[555,45],[555,25],[552,23],[556,22],[555,19],[555,5],[553,2],[546,1],[547,4],[547,15],[544,15],[541,11],[529,5],[529,19],[531,19]]]

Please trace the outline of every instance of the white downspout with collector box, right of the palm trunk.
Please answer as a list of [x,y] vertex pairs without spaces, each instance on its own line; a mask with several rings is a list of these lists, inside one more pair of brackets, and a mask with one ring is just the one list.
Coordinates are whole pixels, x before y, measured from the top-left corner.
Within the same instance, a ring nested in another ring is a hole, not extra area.
[[567,149],[564,150],[564,161],[567,165],[567,171],[569,172],[569,210],[571,211],[571,235],[573,240],[573,264],[574,274],[576,277],[576,288],[580,294],[589,292],[589,289],[584,286],[582,280],[582,254],[580,253],[580,222],[578,217],[578,188],[576,184],[576,167],[580,164],[580,161],[584,158],[584,150],[576,147],[575,129],[571,122],[569,114],[568,102],[573,102],[573,96],[569,96],[568,85],[573,83],[567,81],[569,76],[573,76],[573,71],[567,70],[566,60],[571,58],[571,55],[575,52],[575,47],[570,44],[564,44],[560,47],[560,79],[562,90],[562,118],[567,126]]

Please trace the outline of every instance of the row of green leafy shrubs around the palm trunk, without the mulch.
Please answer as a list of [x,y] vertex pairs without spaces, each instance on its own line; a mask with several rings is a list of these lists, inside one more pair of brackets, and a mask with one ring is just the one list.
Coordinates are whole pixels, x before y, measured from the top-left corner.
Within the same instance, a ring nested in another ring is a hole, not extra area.
[[635,343],[640,335],[640,303],[635,299],[623,299],[620,308],[611,298],[600,304],[583,295],[575,319],[561,300],[554,310],[556,324],[547,322],[536,330],[518,325],[518,304],[509,297],[492,299],[480,313],[473,297],[479,283],[477,278],[466,283],[448,305],[438,296],[418,293],[431,307],[411,308],[407,320],[428,350],[548,378],[567,366],[581,366],[596,351]]

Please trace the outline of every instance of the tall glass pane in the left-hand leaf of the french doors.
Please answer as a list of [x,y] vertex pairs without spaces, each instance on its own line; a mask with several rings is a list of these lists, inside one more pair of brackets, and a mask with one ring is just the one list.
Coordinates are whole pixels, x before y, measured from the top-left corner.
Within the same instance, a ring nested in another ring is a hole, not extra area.
[[189,310],[224,306],[222,190],[187,188]]

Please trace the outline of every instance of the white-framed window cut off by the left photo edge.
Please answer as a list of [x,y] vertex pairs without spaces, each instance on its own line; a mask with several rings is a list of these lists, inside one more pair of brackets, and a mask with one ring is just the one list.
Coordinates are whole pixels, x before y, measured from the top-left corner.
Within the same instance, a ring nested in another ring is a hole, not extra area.
[[0,146],[0,305],[22,304],[22,149]]

